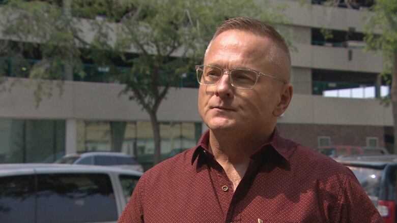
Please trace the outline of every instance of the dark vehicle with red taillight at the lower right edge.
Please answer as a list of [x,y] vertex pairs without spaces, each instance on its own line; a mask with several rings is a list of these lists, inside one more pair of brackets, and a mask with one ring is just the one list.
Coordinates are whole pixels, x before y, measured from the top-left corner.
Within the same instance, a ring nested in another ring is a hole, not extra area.
[[385,223],[397,222],[397,155],[365,155],[335,160],[353,171]]

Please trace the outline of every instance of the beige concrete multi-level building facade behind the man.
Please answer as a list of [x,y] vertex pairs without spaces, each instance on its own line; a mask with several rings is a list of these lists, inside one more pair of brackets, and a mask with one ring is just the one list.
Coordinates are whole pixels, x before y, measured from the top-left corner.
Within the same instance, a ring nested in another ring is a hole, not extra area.
[[[311,148],[321,145],[381,146],[391,150],[391,107],[378,98],[388,93],[379,73],[383,58],[362,49],[366,12],[286,4],[292,51],[294,95],[278,120],[282,136]],[[331,40],[319,37],[327,28]],[[345,36],[345,37],[344,37]],[[361,38],[361,40],[360,40]],[[9,78],[0,93],[0,163],[51,162],[65,153],[110,151],[114,128],[121,126],[118,151],[153,153],[149,116],[120,84],[65,81],[38,107],[30,80]],[[172,88],[158,111],[163,154],[195,145],[207,128],[197,112],[197,88]]]

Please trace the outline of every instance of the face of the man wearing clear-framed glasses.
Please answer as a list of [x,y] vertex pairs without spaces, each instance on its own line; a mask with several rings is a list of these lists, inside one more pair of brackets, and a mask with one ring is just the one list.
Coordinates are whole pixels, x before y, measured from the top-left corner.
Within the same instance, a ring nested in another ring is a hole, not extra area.
[[[270,39],[245,31],[224,31],[212,41],[204,64],[224,69],[247,68],[279,77],[277,67],[265,60],[271,45]],[[277,116],[284,111],[277,106],[285,89],[282,82],[265,76],[259,77],[251,90],[236,89],[230,84],[229,75],[223,74],[217,85],[200,85],[198,112],[213,131],[272,131]]]

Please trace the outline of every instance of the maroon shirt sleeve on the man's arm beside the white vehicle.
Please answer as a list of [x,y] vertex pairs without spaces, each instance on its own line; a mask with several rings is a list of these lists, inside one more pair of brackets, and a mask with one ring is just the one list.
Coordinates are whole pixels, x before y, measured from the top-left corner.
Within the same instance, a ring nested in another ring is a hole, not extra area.
[[138,223],[144,221],[144,207],[142,203],[144,176],[136,184],[132,196],[125,206],[118,223]]

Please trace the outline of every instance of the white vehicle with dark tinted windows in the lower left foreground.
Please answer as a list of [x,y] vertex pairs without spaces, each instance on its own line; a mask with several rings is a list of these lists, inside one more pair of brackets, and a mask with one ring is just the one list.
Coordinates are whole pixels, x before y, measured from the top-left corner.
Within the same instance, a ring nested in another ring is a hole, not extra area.
[[0,222],[116,222],[142,174],[103,166],[0,165]]

